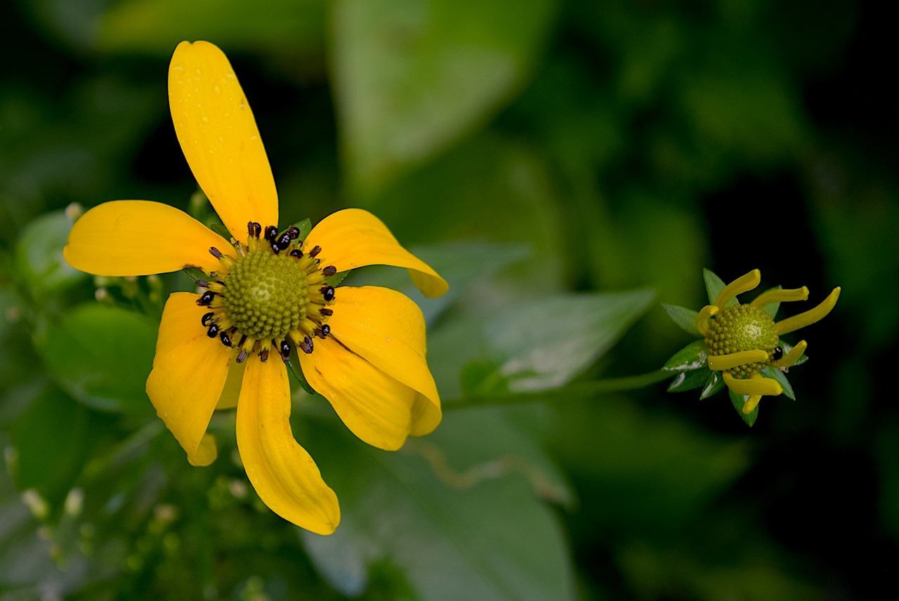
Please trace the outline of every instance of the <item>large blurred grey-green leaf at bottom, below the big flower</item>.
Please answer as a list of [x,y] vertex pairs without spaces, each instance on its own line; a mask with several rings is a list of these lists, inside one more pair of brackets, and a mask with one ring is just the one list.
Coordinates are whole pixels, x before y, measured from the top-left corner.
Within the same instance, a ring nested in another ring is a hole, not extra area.
[[503,415],[453,412],[396,454],[316,424],[303,439],[343,516],[333,535],[301,532],[325,578],[352,597],[375,572],[390,598],[573,599],[564,537],[538,498],[564,499],[565,487]]

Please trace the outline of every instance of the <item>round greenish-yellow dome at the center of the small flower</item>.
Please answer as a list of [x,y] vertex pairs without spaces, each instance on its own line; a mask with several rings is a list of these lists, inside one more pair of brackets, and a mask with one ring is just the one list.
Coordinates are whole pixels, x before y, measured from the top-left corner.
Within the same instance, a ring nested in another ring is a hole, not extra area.
[[729,369],[734,377],[747,377],[767,367],[776,359],[778,334],[774,320],[761,307],[733,305],[726,307],[709,320],[706,344],[710,354],[729,355],[743,350],[761,349],[768,353],[768,361],[749,363]]

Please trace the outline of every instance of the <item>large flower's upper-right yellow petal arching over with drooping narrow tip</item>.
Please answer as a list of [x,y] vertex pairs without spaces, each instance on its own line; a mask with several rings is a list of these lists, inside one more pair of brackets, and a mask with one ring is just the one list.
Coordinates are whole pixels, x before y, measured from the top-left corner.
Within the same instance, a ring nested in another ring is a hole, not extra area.
[[318,258],[338,271],[365,265],[393,265],[409,270],[424,296],[441,296],[449,289],[446,280],[408,252],[378,217],[361,208],[345,208],[322,219],[309,233],[307,247],[321,246]]

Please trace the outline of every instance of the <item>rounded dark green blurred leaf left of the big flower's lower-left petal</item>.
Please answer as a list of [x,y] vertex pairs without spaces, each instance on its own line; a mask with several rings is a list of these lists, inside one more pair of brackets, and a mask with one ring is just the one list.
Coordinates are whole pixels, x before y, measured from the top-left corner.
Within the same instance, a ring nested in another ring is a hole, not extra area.
[[144,384],[157,329],[145,315],[87,303],[49,323],[37,344],[50,376],[78,401],[106,411],[150,411]]

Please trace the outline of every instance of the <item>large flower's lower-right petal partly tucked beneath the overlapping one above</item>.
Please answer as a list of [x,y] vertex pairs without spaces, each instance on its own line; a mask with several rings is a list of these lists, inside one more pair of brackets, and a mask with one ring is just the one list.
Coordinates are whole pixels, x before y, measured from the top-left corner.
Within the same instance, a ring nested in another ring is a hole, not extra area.
[[412,429],[421,396],[328,337],[312,354],[299,353],[310,386],[325,397],[353,434],[371,446],[395,451]]

